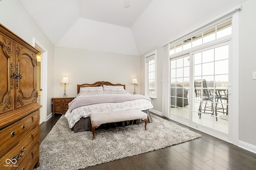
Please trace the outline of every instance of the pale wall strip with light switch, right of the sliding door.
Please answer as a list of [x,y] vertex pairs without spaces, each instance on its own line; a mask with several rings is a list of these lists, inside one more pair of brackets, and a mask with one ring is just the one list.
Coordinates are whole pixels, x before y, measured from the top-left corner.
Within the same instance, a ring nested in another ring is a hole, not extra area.
[[239,140],[256,151],[256,1],[248,0],[239,12]]

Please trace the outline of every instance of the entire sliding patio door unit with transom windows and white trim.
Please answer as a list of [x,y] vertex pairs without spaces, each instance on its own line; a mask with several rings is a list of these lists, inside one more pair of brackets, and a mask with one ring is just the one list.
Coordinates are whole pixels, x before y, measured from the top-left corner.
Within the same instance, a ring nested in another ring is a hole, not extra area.
[[236,143],[237,26],[237,13],[230,14],[164,45],[163,70],[169,72],[162,80],[164,116]]

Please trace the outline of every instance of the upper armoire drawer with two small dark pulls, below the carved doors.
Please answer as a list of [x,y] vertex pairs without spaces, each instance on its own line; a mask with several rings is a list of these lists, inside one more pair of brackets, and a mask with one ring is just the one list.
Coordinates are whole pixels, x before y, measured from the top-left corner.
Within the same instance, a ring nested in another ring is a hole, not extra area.
[[39,112],[24,117],[0,131],[0,157],[18,144],[32,129],[39,125]]

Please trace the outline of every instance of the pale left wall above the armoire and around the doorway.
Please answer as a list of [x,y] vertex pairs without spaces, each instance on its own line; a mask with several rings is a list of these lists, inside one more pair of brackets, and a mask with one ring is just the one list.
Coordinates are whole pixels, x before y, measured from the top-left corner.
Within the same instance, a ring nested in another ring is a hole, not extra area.
[[[0,23],[31,45],[33,45],[33,38],[36,38],[48,50],[48,87],[53,87],[54,46],[20,4],[20,1],[0,1]],[[47,95],[47,114],[50,114],[52,112],[51,98],[53,96],[53,88],[48,88]]]

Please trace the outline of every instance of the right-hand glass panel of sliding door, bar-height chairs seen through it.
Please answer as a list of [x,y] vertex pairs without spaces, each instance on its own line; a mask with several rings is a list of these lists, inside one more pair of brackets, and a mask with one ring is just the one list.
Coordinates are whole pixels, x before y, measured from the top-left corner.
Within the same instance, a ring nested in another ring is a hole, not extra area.
[[228,134],[229,44],[190,53],[192,122]]

